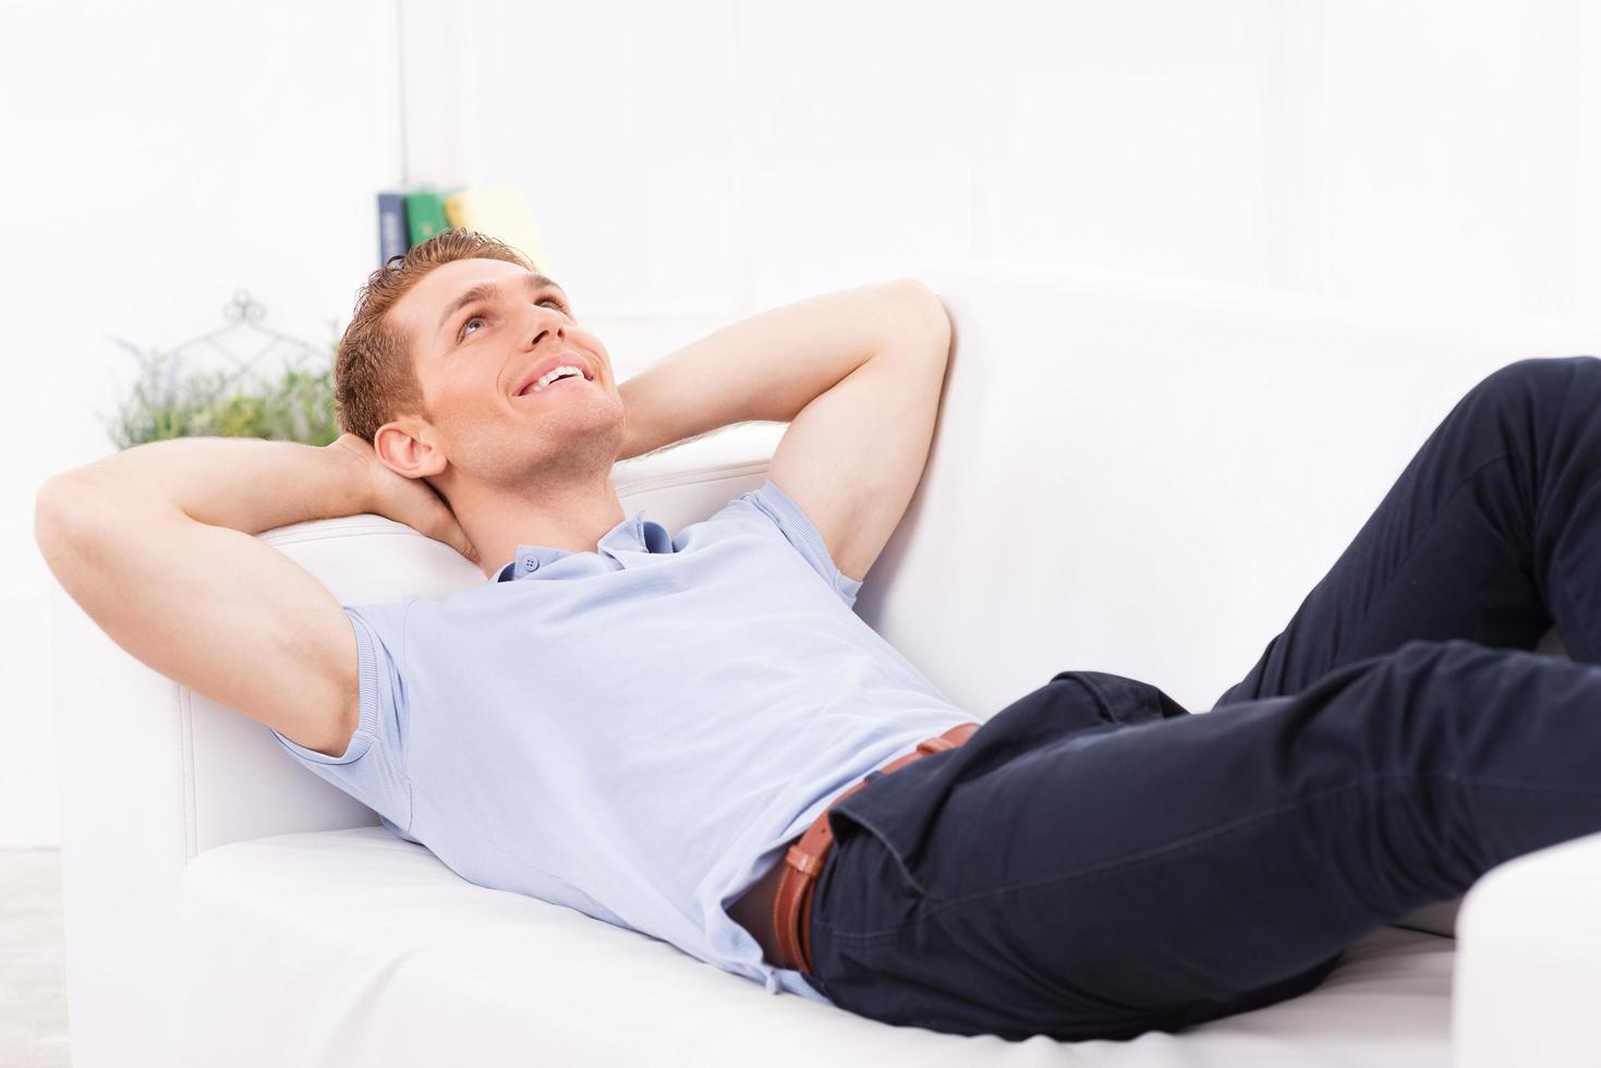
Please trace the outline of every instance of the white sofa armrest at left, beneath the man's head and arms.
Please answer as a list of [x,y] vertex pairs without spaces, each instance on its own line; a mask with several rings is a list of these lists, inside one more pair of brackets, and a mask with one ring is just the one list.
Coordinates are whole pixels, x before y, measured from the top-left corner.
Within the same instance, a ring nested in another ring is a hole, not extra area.
[[[616,464],[623,509],[674,533],[754,490],[783,424],[748,423]],[[484,573],[381,516],[258,535],[341,604],[445,597]],[[219,576],[224,581],[226,576]],[[58,584],[50,594],[61,863],[74,1063],[165,1065],[179,882],[195,855],[242,839],[373,826],[378,817],[301,767],[253,719],[146,668]]]

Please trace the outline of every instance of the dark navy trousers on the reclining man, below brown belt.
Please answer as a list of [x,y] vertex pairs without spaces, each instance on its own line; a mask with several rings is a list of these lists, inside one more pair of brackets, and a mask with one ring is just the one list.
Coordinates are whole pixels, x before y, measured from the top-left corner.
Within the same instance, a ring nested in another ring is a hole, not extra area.
[[[1553,624],[1572,660],[1529,652]],[[1018,1039],[1303,993],[1375,927],[1601,831],[1598,663],[1601,360],[1519,360],[1212,711],[1063,671],[836,805],[812,982]]]

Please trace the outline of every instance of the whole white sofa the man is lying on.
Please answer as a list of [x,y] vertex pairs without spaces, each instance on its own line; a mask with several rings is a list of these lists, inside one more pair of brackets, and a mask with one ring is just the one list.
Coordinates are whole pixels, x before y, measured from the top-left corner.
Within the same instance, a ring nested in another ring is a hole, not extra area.
[[[1066,668],[1210,708],[1465,389],[1519,357],[1601,352],[1575,323],[1109,271],[921,277],[956,347],[929,471],[857,610],[980,719]],[[677,530],[759,485],[781,429],[620,464],[624,508]],[[344,604],[484,581],[373,516],[261,538]],[[1457,938],[1382,929],[1316,991],[1182,1034],[893,1028],[464,882],[264,727],[130,658],[59,588],[53,604],[77,1068],[1601,1058],[1601,837],[1489,874]],[[1542,648],[1561,655],[1555,634]],[[1425,913],[1412,922],[1449,935],[1452,906]]]

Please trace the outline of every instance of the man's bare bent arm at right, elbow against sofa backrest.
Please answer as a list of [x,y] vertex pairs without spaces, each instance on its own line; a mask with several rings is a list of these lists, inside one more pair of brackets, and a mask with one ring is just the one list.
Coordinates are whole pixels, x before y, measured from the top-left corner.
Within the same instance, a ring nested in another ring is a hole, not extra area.
[[861,578],[922,479],[949,346],[940,298],[913,279],[762,312],[621,384],[623,458],[728,423],[789,423],[768,477]]

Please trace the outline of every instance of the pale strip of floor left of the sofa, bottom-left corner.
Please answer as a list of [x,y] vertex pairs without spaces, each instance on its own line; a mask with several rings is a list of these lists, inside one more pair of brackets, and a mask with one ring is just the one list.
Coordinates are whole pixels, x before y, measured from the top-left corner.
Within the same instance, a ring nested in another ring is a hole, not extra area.
[[61,850],[0,849],[0,1065],[70,1063]]

